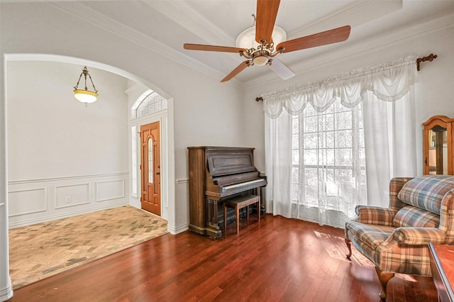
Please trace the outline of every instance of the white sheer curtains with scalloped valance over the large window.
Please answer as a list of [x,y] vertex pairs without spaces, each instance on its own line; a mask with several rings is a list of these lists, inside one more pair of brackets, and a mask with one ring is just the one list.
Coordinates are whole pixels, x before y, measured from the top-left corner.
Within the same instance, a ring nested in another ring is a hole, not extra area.
[[262,95],[268,213],[343,227],[357,204],[387,206],[389,179],[416,175],[415,62]]

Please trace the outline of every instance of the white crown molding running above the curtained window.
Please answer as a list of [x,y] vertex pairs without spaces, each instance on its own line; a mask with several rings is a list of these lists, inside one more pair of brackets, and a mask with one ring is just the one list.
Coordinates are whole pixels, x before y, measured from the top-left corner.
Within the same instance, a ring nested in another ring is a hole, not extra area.
[[[360,55],[367,55],[380,50],[386,50],[389,47],[396,45],[402,45],[408,43],[411,40],[416,40],[423,35],[436,32],[438,30],[444,30],[453,28],[454,13],[450,13],[441,18],[433,19],[426,23],[420,23],[416,26],[407,26],[401,30],[393,30],[392,33],[382,33],[381,35],[375,35],[367,40],[362,40],[357,43],[353,43],[348,47],[336,52],[327,52],[324,54],[317,55],[316,58],[311,60],[304,60],[297,65],[292,65],[293,72],[298,76],[306,72],[312,72],[317,69],[326,68],[334,65],[338,62],[345,62],[348,60],[354,60],[355,57]],[[436,52],[436,50],[433,50]],[[404,54],[402,54],[404,55]],[[416,53],[415,55],[419,55]],[[252,89],[260,86],[267,86],[276,82],[274,74],[265,74],[262,77],[255,78],[244,83],[243,89]]]

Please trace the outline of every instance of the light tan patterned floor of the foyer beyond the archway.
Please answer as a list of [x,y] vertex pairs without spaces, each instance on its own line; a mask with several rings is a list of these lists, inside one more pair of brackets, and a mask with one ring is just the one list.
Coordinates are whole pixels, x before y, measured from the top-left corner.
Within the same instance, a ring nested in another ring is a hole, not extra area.
[[13,289],[167,233],[167,221],[121,206],[9,230]]

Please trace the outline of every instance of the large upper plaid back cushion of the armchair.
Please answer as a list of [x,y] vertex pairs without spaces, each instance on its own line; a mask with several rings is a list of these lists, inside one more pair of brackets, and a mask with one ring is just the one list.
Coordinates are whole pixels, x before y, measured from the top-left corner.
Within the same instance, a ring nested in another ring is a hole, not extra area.
[[397,197],[411,206],[440,214],[441,201],[450,189],[454,189],[454,177],[423,175],[407,181]]

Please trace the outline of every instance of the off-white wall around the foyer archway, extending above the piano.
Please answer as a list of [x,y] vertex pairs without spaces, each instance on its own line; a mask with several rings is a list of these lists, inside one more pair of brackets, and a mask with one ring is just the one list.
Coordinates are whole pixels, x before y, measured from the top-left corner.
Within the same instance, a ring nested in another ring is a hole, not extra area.
[[241,91],[49,3],[2,3],[0,13],[1,55],[37,53],[99,62],[133,74],[174,100],[170,126],[175,129],[176,184],[169,223],[187,225],[187,147],[242,145]]

